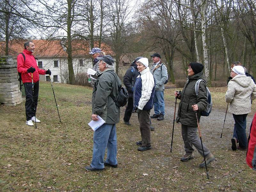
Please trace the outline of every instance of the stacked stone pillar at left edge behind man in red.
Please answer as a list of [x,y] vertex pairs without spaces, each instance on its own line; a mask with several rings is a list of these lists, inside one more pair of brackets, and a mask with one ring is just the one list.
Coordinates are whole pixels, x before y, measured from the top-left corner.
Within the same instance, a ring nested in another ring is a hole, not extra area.
[[15,106],[22,102],[17,74],[12,56],[0,56],[0,103]]

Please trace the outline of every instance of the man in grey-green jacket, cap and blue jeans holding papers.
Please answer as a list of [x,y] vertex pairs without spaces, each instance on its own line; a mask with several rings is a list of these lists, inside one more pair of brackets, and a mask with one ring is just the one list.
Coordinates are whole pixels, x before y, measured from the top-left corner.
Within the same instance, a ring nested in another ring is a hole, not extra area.
[[[102,72],[95,82],[92,91],[92,120],[97,121],[98,115],[105,120],[93,134],[92,163],[86,166],[87,171],[103,171],[104,165],[117,167],[116,123],[119,122],[120,108],[113,98],[118,96],[121,80],[114,70],[114,59],[110,55],[97,58]],[[107,159],[104,162],[105,150],[108,148]]]

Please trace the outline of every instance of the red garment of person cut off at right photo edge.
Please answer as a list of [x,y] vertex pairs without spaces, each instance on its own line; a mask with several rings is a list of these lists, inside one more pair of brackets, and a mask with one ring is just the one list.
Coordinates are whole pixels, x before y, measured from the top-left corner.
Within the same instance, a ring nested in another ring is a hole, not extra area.
[[248,138],[246,163],[256,171],[256,113],[252,120],[250,136]]

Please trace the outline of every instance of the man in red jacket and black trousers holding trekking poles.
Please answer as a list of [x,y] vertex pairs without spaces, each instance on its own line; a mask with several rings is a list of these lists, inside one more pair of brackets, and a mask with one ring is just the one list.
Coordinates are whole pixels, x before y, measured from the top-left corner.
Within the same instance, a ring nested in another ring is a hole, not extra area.
[[[50,70],[40,69],[37,66],[36,59],[32,53],[35,50],[35,45],[32,41],[27,41],[24,43],[23,54],[19,54],[17,57],[17,70],[21,73],[21,80],[23,82],[25,93],[26,93],[26,124],[28,126],[33,126],[33,122],[41,122],[36,118],[36,107],[38,100],[38,91],[39,91],[39,74],[40,75],[51,75]],[[32,92],[32,76],[33,73],[33,84],[34,84],[34,93]],[[33,95],[34,94],[34,95]],[[33,98],[34,96],[34,98]]]

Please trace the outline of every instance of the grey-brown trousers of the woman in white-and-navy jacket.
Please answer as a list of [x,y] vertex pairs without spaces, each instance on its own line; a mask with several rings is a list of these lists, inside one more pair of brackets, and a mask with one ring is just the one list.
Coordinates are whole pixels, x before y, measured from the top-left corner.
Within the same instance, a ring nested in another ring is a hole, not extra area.
[[151,146],[150,140],[150,110],[142,110],[138,113],[138,119],[140,123],[140,134],[143,147]]

